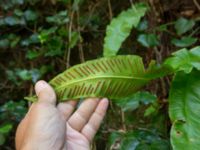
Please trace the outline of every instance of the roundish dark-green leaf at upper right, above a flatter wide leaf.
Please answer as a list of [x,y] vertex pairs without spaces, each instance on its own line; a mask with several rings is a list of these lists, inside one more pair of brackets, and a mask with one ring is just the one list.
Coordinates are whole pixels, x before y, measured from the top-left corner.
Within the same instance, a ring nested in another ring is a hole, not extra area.
[[175,22],[175,29],[178,35],[182,35],[183,33],[191,30],[194,25],[194,20],[188,20],[181,17]]

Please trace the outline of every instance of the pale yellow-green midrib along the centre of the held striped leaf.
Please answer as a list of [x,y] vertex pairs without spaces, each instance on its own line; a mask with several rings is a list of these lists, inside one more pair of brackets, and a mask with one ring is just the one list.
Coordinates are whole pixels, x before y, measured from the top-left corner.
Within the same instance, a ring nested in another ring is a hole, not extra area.
[[65,83],[57,88],[55,88],[55,91],[64,88],[66,86],[70,86],[73,84],[76,84],[78,82],[83,82],[87,80],[95,80],[95,79],[122,79],[122,80],[144,80],[144,81],[149,81],[149,79],[146,78],[141,78],[141,77],[133,77],[133,76],[92,76],[92,77],[87,77],[87,78],[81,78],[81,79],[75,79],[73,82],[68,82]]

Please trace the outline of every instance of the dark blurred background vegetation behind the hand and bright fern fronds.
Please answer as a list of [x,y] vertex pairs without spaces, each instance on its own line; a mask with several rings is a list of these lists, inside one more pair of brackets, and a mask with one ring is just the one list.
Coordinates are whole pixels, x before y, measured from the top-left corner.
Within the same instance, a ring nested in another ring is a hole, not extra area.
[[[14,149],[17,124],[29,105],[24,96],[34,93],[34,83],[102,57],[106,26],[141,1],[0,0],[0,149]],[[173,51],[200,43],[198,0],[143,2],[150,10],[120,54],[140,55],[147,65],[151,59],[161,63]],[[93,149],[135,149],[136,145],[137,150],[171,149],[170,80],[166,77],[145,87],[151,94],[140,92],[132,100],[112,102]]]

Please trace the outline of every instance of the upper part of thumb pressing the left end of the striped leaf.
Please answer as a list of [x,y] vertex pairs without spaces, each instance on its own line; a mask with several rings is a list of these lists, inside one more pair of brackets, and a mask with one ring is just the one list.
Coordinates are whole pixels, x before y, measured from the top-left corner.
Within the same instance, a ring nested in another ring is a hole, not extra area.
[[38,96],[38,102],[56,104],[56,94],[53,88],[45,81],[38,81],[35,85],[35,92]]

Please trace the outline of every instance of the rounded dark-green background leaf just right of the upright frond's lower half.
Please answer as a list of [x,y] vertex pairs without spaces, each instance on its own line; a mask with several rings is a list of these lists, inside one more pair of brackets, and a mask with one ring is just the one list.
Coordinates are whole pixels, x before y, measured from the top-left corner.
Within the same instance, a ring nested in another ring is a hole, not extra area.
[[140,34],[137,41],[147,48],[159,45],[158,38],[155,34]]

